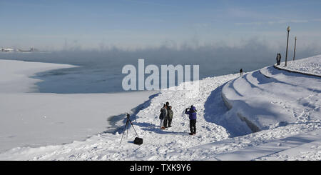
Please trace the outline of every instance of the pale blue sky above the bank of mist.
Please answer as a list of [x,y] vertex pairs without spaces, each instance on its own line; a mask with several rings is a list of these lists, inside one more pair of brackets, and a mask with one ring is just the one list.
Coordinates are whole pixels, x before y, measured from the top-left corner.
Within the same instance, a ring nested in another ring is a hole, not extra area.
[[321,1],[6,1],[0,47],[59,50],[284,44],[321,46]]

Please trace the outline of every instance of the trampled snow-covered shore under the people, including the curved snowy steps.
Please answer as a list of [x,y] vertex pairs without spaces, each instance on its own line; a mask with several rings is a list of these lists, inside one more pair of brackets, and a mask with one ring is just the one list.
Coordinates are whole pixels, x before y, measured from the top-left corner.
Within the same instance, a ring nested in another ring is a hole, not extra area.
[[[131,119],[144,139],[141,146],[133,144],[133,129],[120,144],[118,129],[116,134],[71,144],[17,147],[0,154],[0,159],[320,160],[320,78],[270,66],[242,77],[215,76],[199,83],[199,94],[193,85],[188,85],[192,90],[165,89],[140,106]],[[165,101],[173,106],[174,119],[173,127],[163,131],[158,115]],[[192,104],[198,109],[195,136],[188,135],[188,116],[183,114]]]

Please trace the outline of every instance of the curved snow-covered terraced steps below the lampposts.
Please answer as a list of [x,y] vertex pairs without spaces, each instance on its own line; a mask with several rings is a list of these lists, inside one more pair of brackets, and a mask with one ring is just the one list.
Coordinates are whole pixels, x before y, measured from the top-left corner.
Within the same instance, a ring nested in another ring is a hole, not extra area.
[[223,87],[231,111],[252,131],[320,121],[321,78],[272,66],[243,75]]

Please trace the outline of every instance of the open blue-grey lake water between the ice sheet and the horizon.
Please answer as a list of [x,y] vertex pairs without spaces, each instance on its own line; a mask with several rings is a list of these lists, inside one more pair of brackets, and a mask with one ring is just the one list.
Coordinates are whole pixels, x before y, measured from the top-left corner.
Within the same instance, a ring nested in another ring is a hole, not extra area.
[[[38,72],[35,92],[58,94],[91,94],[122,92],[123,66],[132,64],[138,69],[138,59],[145,66],[199,65],[200,79],[205,77],[253,71],[274,63],[274,55],[235,56],[224,53],[198,53],[186,51],[57,51],[52,53],[0,53],[0,59],[39,61],[56,64],[72,64],[78,67]],[[147,77],[147,75],[146,75]],[[146,78],[145,77],[145,78]],[[193,76],[191,76],[193,78]]]

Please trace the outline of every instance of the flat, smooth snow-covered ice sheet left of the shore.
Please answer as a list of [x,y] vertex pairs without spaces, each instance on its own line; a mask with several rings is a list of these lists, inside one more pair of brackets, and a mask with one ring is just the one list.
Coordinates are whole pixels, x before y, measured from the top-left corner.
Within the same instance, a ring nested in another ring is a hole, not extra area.
[[[18,146],[71,143],[110,129],[111,116],[147,101],[155,91],[118,94],[34,93],[39,71],[71,65],[0,60],[0,152]],[[122,116],[123,117],[123,116]]]

